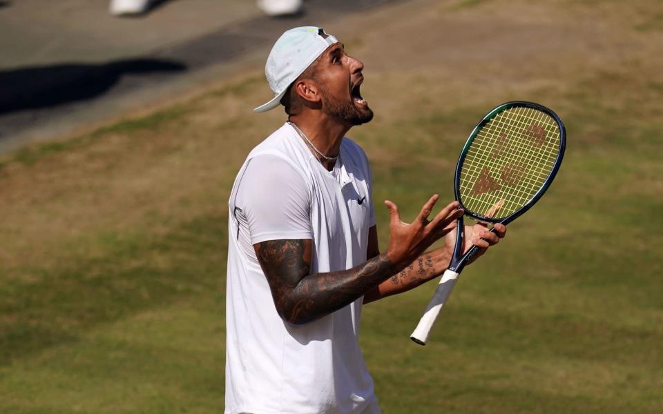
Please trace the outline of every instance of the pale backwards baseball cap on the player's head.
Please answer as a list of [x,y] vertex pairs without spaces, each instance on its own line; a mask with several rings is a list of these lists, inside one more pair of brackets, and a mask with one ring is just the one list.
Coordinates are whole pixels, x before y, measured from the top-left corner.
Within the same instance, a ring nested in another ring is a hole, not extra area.
[[265,112],[276,108],[290,84],[337,42],[336,37],[315,26],[294,28],[281,34],[271,48],[265,65],[265,77],[274,97],[254,111]]

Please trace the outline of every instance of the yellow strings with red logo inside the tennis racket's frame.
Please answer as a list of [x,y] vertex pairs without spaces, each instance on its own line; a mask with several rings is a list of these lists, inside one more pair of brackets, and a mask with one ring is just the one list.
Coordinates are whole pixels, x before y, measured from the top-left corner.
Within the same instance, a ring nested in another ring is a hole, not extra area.
[[555,166],[559,126],[534,108],[500,112],[479,130],[461,166],[460,193],[467,210],[483,215],[501,201],[506,217],[534,197]]

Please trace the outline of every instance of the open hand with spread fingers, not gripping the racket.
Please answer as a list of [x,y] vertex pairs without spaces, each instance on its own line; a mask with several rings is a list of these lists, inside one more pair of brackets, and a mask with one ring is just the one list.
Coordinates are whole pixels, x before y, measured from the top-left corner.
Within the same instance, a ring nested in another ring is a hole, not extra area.
[[456,219],[465,213],[458,209],[458,201],[448,204],[432,220],[428,220],[438,199],[439,195],[430,197],[411,224],[403,223],[396,204],[385,200],[391,216],[389,247],[385,253],[396,267],[404,268],[412,263],[430,245],[456,228]]

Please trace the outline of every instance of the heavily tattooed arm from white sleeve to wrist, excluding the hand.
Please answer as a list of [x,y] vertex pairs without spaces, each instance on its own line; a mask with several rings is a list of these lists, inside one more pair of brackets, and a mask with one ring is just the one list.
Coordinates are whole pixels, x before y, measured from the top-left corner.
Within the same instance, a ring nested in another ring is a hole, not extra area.
[[377,255],[352,269],[309,274],[306,243],[310,248],[305,240],[270,240],[256,247],[276,309],[288,322],[303,324],[332,313],[396,273],[387,255]]

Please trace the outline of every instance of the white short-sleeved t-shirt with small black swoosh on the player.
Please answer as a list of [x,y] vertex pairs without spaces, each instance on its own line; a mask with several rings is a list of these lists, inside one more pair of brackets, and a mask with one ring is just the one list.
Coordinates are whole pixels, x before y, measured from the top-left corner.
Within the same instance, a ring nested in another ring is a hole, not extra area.
[[253,244],[312,239],[311,273],[366,261],[371,172],[344,138],[333,171],[285,124],[251,151],[229,201],[225,413],[379,413],[358,346],[363,297],[308,324],[276,312]]

